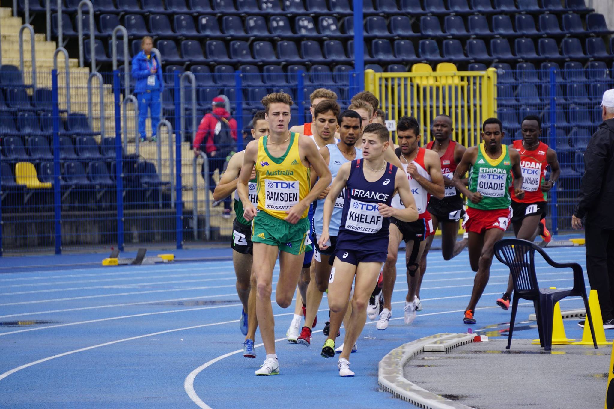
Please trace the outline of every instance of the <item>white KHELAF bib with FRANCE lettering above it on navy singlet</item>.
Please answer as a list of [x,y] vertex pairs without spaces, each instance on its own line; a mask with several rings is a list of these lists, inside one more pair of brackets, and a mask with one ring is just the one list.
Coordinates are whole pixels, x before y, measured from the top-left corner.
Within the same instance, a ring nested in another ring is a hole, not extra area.
[[376,233],[380,231],[383,216],[379,214],[378,204],[362,202],[354,199],[354,197],[386,202],[389,195],[363,189],[352,189],[351,197],[348,218],[345,224],[346,229],[362,233]]

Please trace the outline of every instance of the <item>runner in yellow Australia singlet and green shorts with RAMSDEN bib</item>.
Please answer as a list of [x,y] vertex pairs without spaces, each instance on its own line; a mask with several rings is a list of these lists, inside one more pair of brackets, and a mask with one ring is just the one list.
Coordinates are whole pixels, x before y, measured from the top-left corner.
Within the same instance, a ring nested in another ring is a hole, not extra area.
[[[308,240],[309,204],[330,185],[330,170],[309,137],[288,130],[292,98],[285,93],[262,99],[270,132],[247,144],[237,190],[243,202],[244,218],[252,221],[256,313],[266,360],[256,375],[277,375],[271,281],[279,254],[277,303],[287,308],[297,288]],[[258,209],[249,199],[251,169],[256,169]],[[320,178],[309,191],[311,167]],[[281,250],[281,251],[280,251]]]

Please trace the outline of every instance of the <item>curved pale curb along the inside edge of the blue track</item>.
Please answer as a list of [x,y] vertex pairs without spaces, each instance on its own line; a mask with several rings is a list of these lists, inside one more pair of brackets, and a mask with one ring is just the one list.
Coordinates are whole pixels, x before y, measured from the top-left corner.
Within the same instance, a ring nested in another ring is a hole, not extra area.
[[[424,353],[427,345],[443,346],[448,353],[457,346],[473,342],[475,334],[435,334],[405,343],[390,351],[378,364],[378,384],[386,392],[391,392],[398,399],[426,409],[461,409],[469,408],[461,403],[429,392],[403,377],[403,366],[418,354]],[[427,348],[429,349],[429,348]]]

